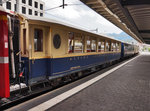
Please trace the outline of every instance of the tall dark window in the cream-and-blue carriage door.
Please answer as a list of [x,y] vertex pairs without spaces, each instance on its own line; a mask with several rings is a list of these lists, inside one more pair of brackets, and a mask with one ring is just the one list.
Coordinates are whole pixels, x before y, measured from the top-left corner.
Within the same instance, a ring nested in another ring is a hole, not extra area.
[[43,51],[43,31],[41,29],[34,30],[34,51]]

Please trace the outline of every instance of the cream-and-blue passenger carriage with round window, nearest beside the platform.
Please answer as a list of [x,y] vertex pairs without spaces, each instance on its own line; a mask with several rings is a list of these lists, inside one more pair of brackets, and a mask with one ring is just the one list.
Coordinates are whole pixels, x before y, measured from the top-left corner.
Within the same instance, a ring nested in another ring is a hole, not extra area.
[[46,19],[22,18],[22,60],[28,84],[119,60],[121,42]]

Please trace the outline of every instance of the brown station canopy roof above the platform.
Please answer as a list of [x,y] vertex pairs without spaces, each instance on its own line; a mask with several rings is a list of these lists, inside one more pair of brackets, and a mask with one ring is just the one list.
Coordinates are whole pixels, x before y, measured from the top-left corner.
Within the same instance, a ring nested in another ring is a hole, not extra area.
[[150,44],[150,0],[80,0],[139,42]]

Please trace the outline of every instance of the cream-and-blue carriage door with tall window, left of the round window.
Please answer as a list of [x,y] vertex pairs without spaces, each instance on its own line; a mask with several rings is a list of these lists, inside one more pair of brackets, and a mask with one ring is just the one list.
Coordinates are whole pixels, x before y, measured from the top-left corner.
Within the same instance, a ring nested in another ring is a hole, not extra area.
[[34,80],[43,80],[46,79],[48,73],[47,66],[48,60],[46,58],[46,34],[45,28],[36,27],[31,32],[34,36],[34,45],[32,51],[32,62],[31,64],[31,76],[30,79]]

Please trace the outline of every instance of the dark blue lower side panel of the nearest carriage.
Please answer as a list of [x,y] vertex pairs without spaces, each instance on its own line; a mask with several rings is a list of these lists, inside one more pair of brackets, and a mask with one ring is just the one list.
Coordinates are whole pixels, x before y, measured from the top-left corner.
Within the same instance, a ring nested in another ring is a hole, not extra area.
[[[65,58],[45,58],[26,61],[26,77],[29,84],[43,81],[47,78],[64,76],[96,65],[118,60],[121,53],[97,54]],[[27,58],[23,58],[27,60]],[[28,75],[28,76],[27,76]]]

